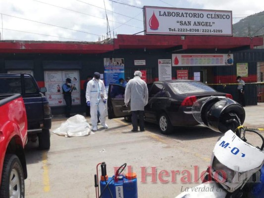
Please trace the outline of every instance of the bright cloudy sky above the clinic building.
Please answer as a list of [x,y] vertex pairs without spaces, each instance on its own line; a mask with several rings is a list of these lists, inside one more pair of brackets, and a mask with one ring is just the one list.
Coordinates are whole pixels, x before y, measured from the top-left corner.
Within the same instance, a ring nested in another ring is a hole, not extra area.
[[264,11],[264,0],[0,0],[1,40],[93,42],[109,30],[111,38],[143,34],[145,5],[231,10],[233,23]]

